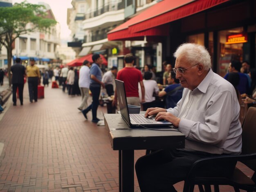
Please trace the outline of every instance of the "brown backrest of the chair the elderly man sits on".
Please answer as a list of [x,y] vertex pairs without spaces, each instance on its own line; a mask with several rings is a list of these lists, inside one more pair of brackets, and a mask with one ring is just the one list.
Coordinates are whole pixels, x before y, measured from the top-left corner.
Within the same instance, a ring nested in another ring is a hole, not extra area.
[[[242,154],[256,152],[256,108],[250,107],[243,123]],[[256,160],[243,161],[246,166],[256,171]]]

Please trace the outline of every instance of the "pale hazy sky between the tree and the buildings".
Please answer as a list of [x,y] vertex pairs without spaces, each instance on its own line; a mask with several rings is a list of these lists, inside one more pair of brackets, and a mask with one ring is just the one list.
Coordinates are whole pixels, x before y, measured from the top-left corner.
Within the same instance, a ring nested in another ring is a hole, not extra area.
[[[12,0],[12,3],[20,3],[24,0]],[[38,4],[38,2],[45,2],[49,4],[52,9],[52,13],[57,22],[61,25],[61,40],[70,40],[70,29],[67,26],[67,8],[72,8],[72,0],[27,0],[31,4]]]

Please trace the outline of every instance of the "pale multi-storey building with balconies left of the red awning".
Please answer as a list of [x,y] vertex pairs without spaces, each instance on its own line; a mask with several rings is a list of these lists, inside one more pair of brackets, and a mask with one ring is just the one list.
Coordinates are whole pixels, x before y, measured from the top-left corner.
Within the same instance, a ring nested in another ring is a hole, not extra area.
[[[133,51],[138,55],[137,63],[140,65],[139,62],[144,59],[141,58],[140,49],[131,48],[143,46],[144,40],[130,43],[109,41],[107,33],[156,2],[156,0],[136,0],[136,2],[135,0],[73,0],[73,8],[68,10],[67,18],[73,40],[68,46],[76,51],[76,57],[89,53],[104,55],[108,59],[108,68],[112,66],[123,68],[124,55]],[[82,33],[83,39],[80,36]]]

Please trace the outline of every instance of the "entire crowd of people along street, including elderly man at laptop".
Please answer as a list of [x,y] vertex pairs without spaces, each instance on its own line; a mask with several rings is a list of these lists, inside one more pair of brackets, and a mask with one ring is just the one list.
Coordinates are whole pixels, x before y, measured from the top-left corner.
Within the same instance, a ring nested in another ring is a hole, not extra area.
[[[180,45],[174,57],[175,64],[163,63],[162,77],[157,77],[155,67],[148,64],[142,70],[137,69],[135,56],[131,53],[124,56],[124,68],[118,71],[113,66],[106,73],[101,70],[102,58],[97,53],[92,55],[93,63],[85,60],[81,68],[56,67],[42,74],[34,65],[34,59],[25,68],[20,58],[16,58],[16,64],[11,67],[13,106],[17,102],[17,88],[20,104],[23,104],[25,77],[32,103],[33,100],[37,102],[37,85],[41,77],[43,84],[48,86],[49,79],[54,76],[64,93],[67,88],[68,95],[81,95],[78,109],[86,120],[92,111],[92,122],[97,123],[100,121],[97,108],[102,90],[113,98],[112,107],[115,108],[117,90],[114,80],[124,81],[129,105],[143,106],[145,117],[156,115],[157,121],[170,121],[185,135],[184,149],[157,150],[139,158],[135,166],[142,192],[176,191],[173,184],[185,179],[197,159],[240,154],[245,106],[256,103],[256,70],[250,68],[248,62],[233,60],[227,75],[220,77],[211,70],[209,52],[198,44]],[[88,104],[90,93],[92,103]],[[159,98],[165,98],[162,107],[156,102]],[[234,165],[219,165],[216,172],[223,168],[227,170],[225,175],[229,175]]]

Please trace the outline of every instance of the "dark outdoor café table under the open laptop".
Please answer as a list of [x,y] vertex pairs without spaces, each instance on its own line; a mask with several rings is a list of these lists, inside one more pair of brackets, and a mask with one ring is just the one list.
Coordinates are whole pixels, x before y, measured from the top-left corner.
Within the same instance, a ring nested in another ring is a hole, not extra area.
[[174,128],[173,131],[130,128],[121,114],[104,114],[104,121],[113,150],[119,150],[119,192],[134,192],[134,150],[185,146],[185,136]]

